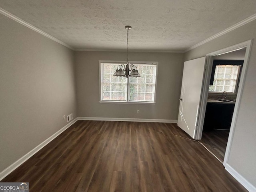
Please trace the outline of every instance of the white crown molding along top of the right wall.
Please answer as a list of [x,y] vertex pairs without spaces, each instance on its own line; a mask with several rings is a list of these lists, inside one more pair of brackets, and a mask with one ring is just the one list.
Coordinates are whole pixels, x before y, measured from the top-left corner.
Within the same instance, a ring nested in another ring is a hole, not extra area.
[[218,37],[220,37],[220,36],[230,32],[230,31],[232,31],[232,30],[234,30],[234,29],[236,29],[236,28],[238,28],[240,26],[243,26],[243,25],[245,25],[245,24],[247,24],[247,23],[249,23],[249,22],[251,22],[251,21],[253,21],[255,19],[256,19],[256,14],[254,14],[254,15],[252,15],[252,16],[250,16],[250,17],[248,17],[248,18],[238,22],[237,24],[234,24],[233,26],[231,26],[231,27],[229,27],[229,28],[227,28],[227,29],[225,29],[225,30],[215,34],[214,36],[211,36],[210,38],[208,38],[206,40],[203,40],[202,42],[200,42],[198,44],[195,44],[194,46],[191,46],[190,48],[186,49],[184,52],[188,52],[188,51],[190,51],[190,50],[192,50],[194,48],[197,48],[197,47],[199,47],[199,46],[201,46],[201,45],[203,45],[203,44],[205,44],[205,43],[207,43],[207,42],[209,42],[211,40],[214,40],[214,39],[216,39],[216,38],[218,38]]

